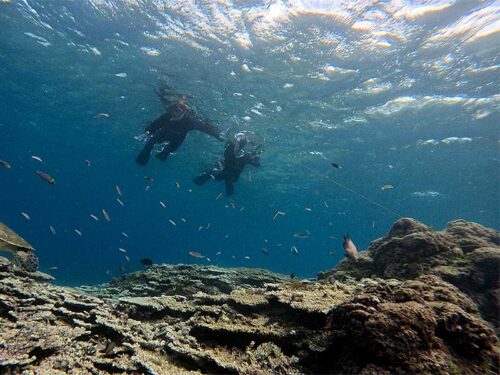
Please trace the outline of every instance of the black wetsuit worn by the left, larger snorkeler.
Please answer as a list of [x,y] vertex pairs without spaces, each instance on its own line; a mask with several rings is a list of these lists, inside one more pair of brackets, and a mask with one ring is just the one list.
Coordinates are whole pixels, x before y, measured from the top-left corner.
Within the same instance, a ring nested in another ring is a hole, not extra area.
[[137,163],[146,165],[154,145],[168,142],[163,150],[156,155],[158,159],[165,161],[168,155],[180,147],[191,130],[199,130],[222,140],[220,130],[216,126],[196,118],[193,114],[187,114],[179,120],[172,120],[170,113],[164,113],[146,127],[146,132],[151,134],[151,138],[137,156]]

